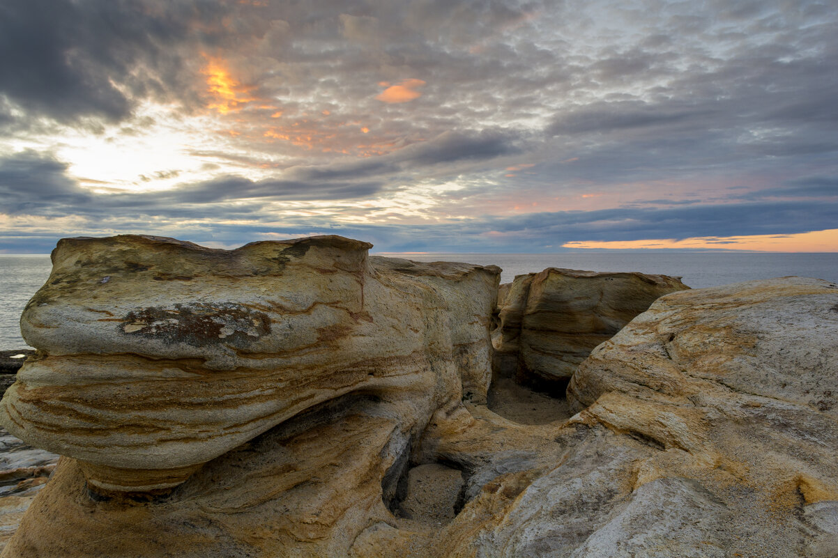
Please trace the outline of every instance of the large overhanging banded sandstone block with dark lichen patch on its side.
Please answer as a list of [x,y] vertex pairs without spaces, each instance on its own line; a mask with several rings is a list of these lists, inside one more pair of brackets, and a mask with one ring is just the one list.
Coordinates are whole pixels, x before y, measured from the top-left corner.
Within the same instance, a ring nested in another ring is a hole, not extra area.
[[405,438],[463,388],[484,400],[499,269],[369,248],[61,240],[23,312],[40,352],[4,396],[3,422],[77,459],[94,488],[149,492],[342,395],[403,402]]

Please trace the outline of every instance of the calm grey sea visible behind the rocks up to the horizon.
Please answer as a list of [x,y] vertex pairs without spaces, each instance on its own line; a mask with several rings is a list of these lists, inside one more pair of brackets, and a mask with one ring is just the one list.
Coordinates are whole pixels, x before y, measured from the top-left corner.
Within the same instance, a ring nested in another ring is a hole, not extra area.
[[[385,254],[416,261],[468,261],[504,270],[502,282],[546,267],[590,271],[641,271],[682,276],[693,288],[752,279],[797,275],[838,281],[838,253],[663,253],[590,252],[582,254]],[[49,276],[49,256],[0,255],[0,350],[23,349],[18,320],[23,307]]]

